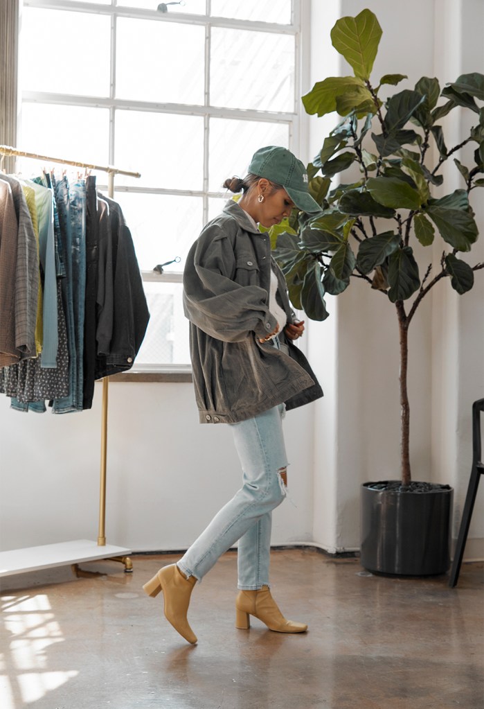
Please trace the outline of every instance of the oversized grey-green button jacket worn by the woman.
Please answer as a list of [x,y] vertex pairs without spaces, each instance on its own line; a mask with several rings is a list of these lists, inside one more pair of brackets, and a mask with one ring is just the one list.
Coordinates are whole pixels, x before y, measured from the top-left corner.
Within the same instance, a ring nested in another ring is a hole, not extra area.
[[190,320],[193,383],[201,423],[237,423],[280,403],[296,408],[322,396],[307,360],[290,340],[288,354],[271,341],[271,268],[288,321],[286,281],[271,257],[268,234],[229,201],[203,228],[184,270],[184,311]]

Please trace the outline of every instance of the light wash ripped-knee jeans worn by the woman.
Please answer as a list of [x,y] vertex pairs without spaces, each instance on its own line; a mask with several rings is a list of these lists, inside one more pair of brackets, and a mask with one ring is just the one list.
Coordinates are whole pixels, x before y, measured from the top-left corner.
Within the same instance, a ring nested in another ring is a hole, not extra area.
[[243,485],[178,562],[187,577],[201,581],[218,557],[239,540],[238,588],[257,591],[264,584],[269,586],[271,510],[286,496],[279,472],[288,464],[282,431],[284,411],[281,404],[230,424]]

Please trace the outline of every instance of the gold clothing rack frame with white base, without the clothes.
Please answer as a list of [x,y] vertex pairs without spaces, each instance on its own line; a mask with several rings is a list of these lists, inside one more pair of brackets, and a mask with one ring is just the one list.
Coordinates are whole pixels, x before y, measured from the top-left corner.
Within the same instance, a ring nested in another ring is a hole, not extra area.
[[[0,172],[3,171],[4,159],[6,156],[30,157],[35,160],[45,160],[45,162],[59,162],[63,165],[83,167],[84,169],[99,170],[108,175],[108,196],[114,196],[114,176],[116,174],[128,175],[130,177],[141,177],[139,172],[130,172],[113,165],[101,166],[78,162],[77,160],[64,160],[61,157],[49,155],[38,155],[35,152],[18,150],[9,145],[0,145]],[[60,542],[59,544],[44,545],[40,547],[29,547],[26,549],[13,549],[9,552],[0,552],[0,576],[20,574],[24,571],[36,571],[47,569],[52,566],[72,565],[74,574],[86,574],[80,571],[77,564],[80,562],[95,561],[98,559],[111,559],[121,562],[125,566],[125,571],[133,571],[131,559],[127,556],[130,549],[106,545],[106,460],[108,441],[108,386],[109,378],[103,378],[103,398],[101,412],[101,471],[99,481],[99,533],[98,540],[77,540],[74,542]]]

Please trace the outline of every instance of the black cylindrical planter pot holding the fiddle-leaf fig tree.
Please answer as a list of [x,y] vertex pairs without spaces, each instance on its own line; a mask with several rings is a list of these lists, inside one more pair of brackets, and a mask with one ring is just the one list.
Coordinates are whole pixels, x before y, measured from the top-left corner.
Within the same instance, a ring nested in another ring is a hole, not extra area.
[[[398,481],[361,486],[361,564],[400,576],[445,574],[450,566],[453,489]],[[393,488],[393,489],[392,489]]]

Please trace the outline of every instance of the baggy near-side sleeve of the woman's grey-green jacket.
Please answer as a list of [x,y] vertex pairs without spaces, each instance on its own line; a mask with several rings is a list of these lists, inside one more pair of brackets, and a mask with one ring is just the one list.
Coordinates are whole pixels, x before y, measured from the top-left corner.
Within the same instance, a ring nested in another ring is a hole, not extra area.
[[211,337],[240,342],[253,332],[276,329],[267,291],[235,281],[237,257],[223,223],[211,223],[191,247],[184,270],[184,310],[188,320]]

